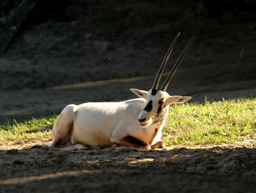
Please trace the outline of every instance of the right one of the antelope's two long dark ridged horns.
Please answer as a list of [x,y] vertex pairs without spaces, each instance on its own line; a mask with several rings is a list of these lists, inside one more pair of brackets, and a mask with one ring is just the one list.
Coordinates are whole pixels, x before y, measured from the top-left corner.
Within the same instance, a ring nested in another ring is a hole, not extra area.
[[166,91],[166,88],[169,85],[170,80],[172,80],[176,70],[178,69],[179,65],[181,64],[182,59],[184,58],[185,54],[187,53],[187,50],[189,49],[189,46],[192,44],[194,39],[195,39],[195,36],[190,39],[186,48],[184,48],[184,50],[182,51],[181,56],[178,57],[176,64],[173,66],[173,69],[170,71],[170,74],[166,77],[165,83],[162,84],[162,88],[160,89],[161,91]]

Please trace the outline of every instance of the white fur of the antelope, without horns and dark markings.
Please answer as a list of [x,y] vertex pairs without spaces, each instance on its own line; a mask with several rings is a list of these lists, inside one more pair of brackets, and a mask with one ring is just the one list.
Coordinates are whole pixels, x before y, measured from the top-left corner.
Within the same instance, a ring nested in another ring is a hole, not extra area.
[[[159,96],[151,96],[151,94],[148,94],[151,92],[138,89],[131,89],[131,91],[142,98],[123,102],[88,102],[65,107],[53,125],[53,143],[51,143],[50,148],[54,147],[57,142],[59,145],[80,143],[102,146],[113,143],[120,144],[121,140],[127,136],[135,137],[150,145],[157,143],[162,137],[162,126],[165,124],[169,102],[162,109],[161,121],[152,124],[154,117],[147,118],[147,122],[148,120],[151,120],[151,122],[143,128],[138,123],[138,118],[143,112],[144,116],[147,114],[148,116],[154,116],[152,114],[156,111],[154,108],[150,113],[145,113],[143,110],[146,102],[152,97],[158,99],[165,95],[165,98],[168,99],[168,97],[173,96],[169,96],[163,91],[159,91]],[[154,104],[157,104],[157,102]]]

